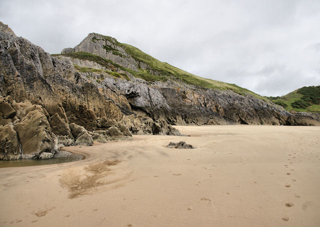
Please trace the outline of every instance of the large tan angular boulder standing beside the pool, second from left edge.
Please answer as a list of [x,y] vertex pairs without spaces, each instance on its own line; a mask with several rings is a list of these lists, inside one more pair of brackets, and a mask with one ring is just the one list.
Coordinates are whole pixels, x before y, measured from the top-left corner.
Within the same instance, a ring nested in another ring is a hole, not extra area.
[[26,115],[14,125],[22,147],[22,158],[39,157],[42,152],[53,153],[51,128],[41,106],[25,110]]

